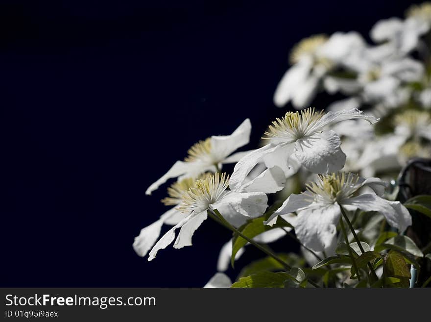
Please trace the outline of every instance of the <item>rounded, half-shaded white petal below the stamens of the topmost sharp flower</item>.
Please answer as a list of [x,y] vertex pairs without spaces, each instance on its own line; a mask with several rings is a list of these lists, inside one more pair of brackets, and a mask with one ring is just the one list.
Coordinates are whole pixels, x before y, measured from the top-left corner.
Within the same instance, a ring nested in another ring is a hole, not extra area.
[[323,131],[297,140],[295,156],[312,173],[336,172],[346,162],[340,144],[341,140],[334,131]]

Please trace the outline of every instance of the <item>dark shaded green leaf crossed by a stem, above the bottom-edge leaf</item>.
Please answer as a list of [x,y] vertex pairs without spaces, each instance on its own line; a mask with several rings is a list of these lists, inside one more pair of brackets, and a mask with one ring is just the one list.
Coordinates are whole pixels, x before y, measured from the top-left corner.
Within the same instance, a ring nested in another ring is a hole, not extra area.
[[[284,260],[291,267],[305,265],[304,259],[294,253],[289,253],[289,254],[279,253],[277,254],[277,256],[282,260]],[[253,261],[247,266],[245,266],[241,270],[241,272],[239,272],[239,277],[248,276],[262,271],[281,271],[283,269],[284,269],[284,266],[282,264],[280,264],[274,258],[268,256],[268,257],[264,257],[262,259]]]

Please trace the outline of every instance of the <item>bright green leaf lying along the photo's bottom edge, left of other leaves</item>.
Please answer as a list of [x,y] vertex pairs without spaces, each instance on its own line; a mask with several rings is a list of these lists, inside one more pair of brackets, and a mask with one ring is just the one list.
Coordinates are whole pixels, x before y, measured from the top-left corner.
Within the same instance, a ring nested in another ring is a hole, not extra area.
[[292,277],[286,272],[258,272],[246,277],[241,277],[232,284],[232,288],[281,288]]

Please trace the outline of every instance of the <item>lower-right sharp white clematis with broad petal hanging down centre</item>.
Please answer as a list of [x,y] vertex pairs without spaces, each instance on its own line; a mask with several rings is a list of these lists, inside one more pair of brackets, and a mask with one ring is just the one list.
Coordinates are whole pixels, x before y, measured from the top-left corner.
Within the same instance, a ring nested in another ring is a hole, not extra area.
[[[379,178],[363,179],[353,173],[332,173],[319,175],[316,182],[307,185],[307,191],[292,194],[268,219],[272,225],[277,216],[297,213],[291,222],[298,239],[314,251],[322,251],[331,245],[336,235],[336,224],[340,206],[356,207],[364,211],[380,212],[387,223],[403,233],[411,225],[411,216],[399,201],[388,201],[383,195],[384,183]],[[375,193],[354,197],[360,188],[368,186]]]

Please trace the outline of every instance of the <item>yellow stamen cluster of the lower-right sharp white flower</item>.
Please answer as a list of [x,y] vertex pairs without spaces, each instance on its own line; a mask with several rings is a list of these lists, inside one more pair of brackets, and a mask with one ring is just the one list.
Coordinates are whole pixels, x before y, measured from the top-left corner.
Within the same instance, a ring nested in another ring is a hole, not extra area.
[[319,201],[335,202],[342,198],[349,198],[359,189],[358,174],[342,172],[318,176],[317,182],[310,182],[306,187]]

